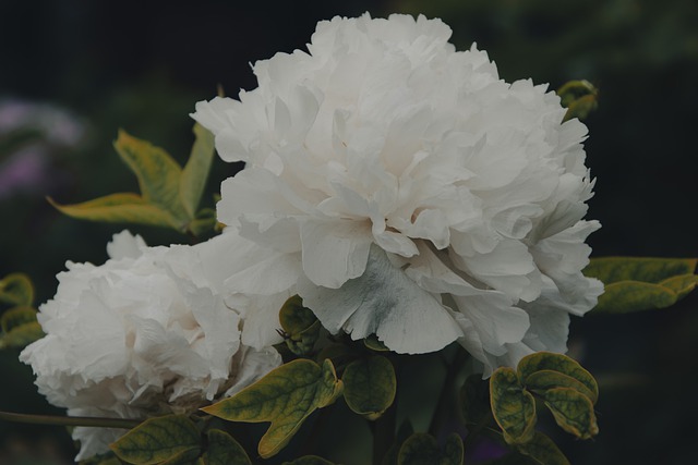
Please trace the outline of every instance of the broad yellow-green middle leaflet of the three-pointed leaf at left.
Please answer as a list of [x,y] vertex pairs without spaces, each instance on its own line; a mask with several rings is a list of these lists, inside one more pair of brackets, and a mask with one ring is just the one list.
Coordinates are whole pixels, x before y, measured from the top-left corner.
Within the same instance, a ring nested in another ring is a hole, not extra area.
[[119,131],[113,146],[137,178],[146,203],[171,213],[182,223],[193,217],[186,213],[180,197],[182,169],[168,152],[124,131]]

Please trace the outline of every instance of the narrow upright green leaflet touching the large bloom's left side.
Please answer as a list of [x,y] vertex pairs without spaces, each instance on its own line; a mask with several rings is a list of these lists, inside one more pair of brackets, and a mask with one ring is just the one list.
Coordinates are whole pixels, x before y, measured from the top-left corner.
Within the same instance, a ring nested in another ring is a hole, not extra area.
[[194,217],[206,187],[214,159],[214,135],[201,124],[194,124],[194,145],[180,178],[180,198],[190,218]]

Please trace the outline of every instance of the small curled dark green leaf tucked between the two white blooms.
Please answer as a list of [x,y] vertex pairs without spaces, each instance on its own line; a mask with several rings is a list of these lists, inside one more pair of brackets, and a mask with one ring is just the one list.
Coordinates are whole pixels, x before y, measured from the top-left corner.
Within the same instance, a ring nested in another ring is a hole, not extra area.
[[312,352],[320,336],[320,320],[310,308],[303,306],[300,296],[293,295],[281,306],[279,322],[284,329],[284,340],[296,355]]

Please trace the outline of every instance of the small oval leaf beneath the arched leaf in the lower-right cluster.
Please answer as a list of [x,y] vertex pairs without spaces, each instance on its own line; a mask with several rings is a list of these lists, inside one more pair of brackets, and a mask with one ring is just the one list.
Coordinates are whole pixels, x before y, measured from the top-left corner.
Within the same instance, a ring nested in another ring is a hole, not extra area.
[[579,439],[590,439],[599,433],[593,404],[586,395],[574,389],[557,388],[545,391],[542,397],[565,431]]

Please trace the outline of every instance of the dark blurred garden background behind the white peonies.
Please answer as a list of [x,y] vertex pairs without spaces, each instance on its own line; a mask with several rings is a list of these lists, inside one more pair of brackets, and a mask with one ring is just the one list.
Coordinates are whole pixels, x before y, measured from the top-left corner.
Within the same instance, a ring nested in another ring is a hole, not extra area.
[[[111,147],[119,127],[184,161],[196,101],[218,85],[230,96],[253,88],[250,62],[303,49],[320,20],[364,11],[442,17],[459,49],[476,41],[508,82],[591,81],[589,217],[603,223],[593,254],[698,256],[695,0],[0,0],[0,276],[28,273],[38,304],[67,259],[104,262],[121,228],[61,217],[45,196],[135,192]],[[209,206],[237,169],[214,166]],[[132,230],[151,244],[184,241]],[[601,382],[599,438],[561,438],[571,462],[695,463],[696,295],[664,311],[577,319],[570,334],[573,355]],[[0,354],[0,370],[1,409],[58,412],[16,354]],[[0,424],[0,464],[70,463],[70,445],[56,428]]]

